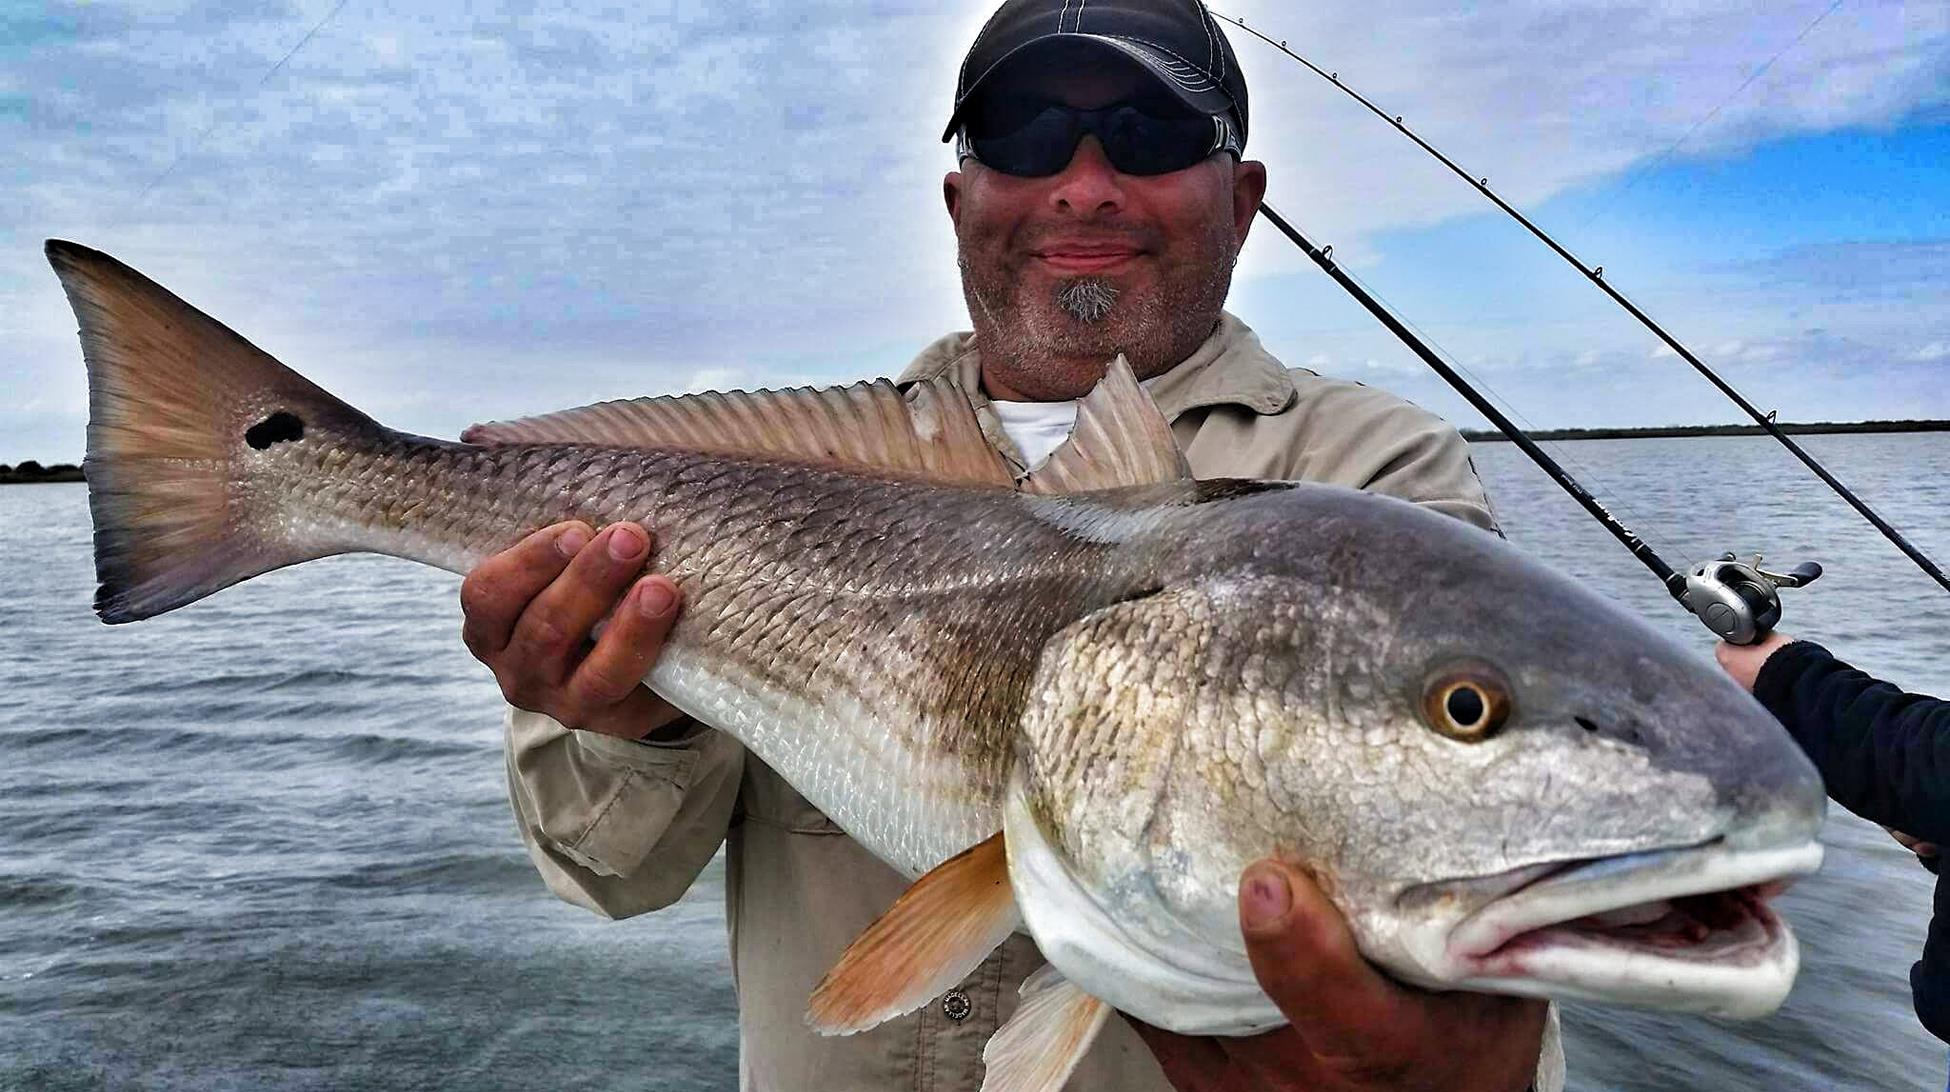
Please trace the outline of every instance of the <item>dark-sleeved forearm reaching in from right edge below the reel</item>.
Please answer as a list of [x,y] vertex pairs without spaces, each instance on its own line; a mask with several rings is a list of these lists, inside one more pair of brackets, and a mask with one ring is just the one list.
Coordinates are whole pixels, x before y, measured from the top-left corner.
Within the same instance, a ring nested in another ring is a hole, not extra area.
[[1950,842],[1950,702],[1878,682],[1812,642],[1767,657],[1753,696],[1802,745],[1837,803]]

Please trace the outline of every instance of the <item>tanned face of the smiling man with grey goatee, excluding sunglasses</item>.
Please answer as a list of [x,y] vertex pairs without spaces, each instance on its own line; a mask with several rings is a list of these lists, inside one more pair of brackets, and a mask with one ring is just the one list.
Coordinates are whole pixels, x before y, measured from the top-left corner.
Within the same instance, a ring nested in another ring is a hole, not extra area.
[[[1150,92],[1125,68],[1024,74],[1010,92],[1096,109]],[[1190,357],[1219,324],[1266,168],[1217,152],[1129,176],[1084,136],[1049,177],[975,158],[944,181],[991,396],[1078,398],[1123,353],[1139,378]]]

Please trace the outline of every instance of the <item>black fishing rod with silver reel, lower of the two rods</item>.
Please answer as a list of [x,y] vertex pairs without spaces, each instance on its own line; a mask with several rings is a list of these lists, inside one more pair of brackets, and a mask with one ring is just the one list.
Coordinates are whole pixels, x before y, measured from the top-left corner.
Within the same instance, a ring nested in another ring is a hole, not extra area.
[[1659,558],[1658,550],[1646,544],[1644,538],[1632,532],[1618,517],[1611,515],[1597,497],[1591,495],[1576,478],[1570,476],[1550,452],[1537,447],[1523,429],[1517,427],[1494,402],[1482,396],[1468,380],[1462,378],[1449,361],[1441,359],[1408,326],[1402,324],[1381,300],[1377,300],[1367,289],[1361,287],[1346,269],[1334,261],[1334,248],[1314,246],[1299,228],[1295,228],[1285,216],[1281,216],[1271,205],[1260,205],[1260,214],[1266,216],[1269,224],[1279,228],[1279,234],[1287,236],[1293,246],[1301,248],[1306,257],[1314,261],[1336,285],[1347,291],[1369,314],[1381,320],[1410,351],[1422,357],[1422,363],[1429,365],[1435,374],[1443,376],[1449,386],[1468,400],[1484,417],[1490,419],[1511,443],[1523,448],[1523,454],[1531,456],[1544,474],[1550,476],[1566,493],[1572,495],[1593,519],[1597,519],[1605,530],[1613,534],[1618,542],[1642,566],[1652,569],[1652,575],[1659,577],[1665,585],[1667,595],[1679,601],[1681,606],[1698,616],[1708,630],[1720,634],[1724,640],[1737,645],[1751,645],[1773,632],[1774,624],[1780,622],[1780,589],[1784,587],[1804,587],[1814,583],[1821,575],[1821,566],[1815,562],[1802,562],[1784,573],[1774,573],[1761,567],[1761,558],[1753,562],[1739,562],[1734,554],[1726,554],[1714,562],[1693,567],[1685,573],[1673,569]]

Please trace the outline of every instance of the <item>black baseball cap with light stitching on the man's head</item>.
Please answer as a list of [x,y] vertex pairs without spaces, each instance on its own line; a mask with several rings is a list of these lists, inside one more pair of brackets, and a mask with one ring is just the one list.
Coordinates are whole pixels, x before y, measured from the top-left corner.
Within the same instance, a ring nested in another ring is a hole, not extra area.
[[1232,43],[1199,0],[1008,0],[961,60],[956,111],[942,140],[954,138],[963,111],[1004,64],[1051,43],[1135,60],[1188,107],[1230,113],[1240,144],[1246,142],[1246,76]]

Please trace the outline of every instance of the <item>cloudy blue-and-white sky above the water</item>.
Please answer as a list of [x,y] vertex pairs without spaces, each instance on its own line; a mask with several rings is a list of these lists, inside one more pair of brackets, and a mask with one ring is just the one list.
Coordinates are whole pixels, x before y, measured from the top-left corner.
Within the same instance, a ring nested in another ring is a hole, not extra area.
[[[1217,10],[1488,176],[1782,419],[1950,417],[1950,6]],[[938,136],[987,14],[0,6],[0,462],[82,456],[86,378],[51,236],[427,435],[899,372],[967,326]],[[1736,419],[1392,127],[1230,37],[1269,201],[1519,421]],[[1264,224],[1230,306],[1289,365],[1482,423]]]

